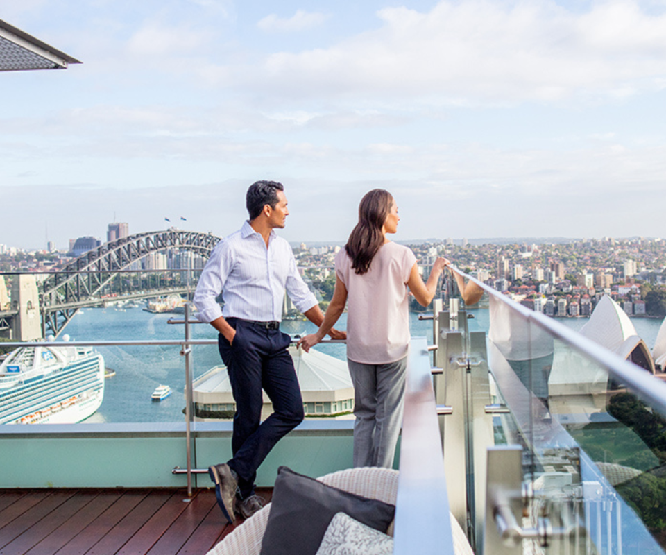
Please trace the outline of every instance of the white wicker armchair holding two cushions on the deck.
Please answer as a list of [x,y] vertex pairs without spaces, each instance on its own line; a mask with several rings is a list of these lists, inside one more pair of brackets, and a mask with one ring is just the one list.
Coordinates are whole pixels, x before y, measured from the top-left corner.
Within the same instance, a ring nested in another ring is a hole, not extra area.
[[[395,504],[395,497],[398,495],[397,470],[350,468],[317,479],[334,488],[391,504]],[[225,536],[207,555],[259,555],[270,512],[271,504],[269,503],[228,536]],[[453,515],[451,515],[451,528],[455,554],[474,555],[465,533]]]

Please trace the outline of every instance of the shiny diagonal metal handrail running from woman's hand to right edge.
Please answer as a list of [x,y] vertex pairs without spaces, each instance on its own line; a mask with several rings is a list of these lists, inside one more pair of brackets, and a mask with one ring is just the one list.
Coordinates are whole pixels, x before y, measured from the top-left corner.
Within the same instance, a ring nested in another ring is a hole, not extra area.
[[545,316],[545,314],[540,314],[523,305],[519,305],[518,302],[507,298],[496,289],[493,289],[476,278],[473,278],[471,275],[460,271],[456,266],[449,267],[451,271],[477,284],[495,300],[504,303],[507,308],[515,314],[520,315],[525,321],[537,325],[556,339],[561,339],[570,345],[584,357],[587,357],[599,364],[599,366],[606,368],[611,377],[618,382],[630,386],[634,393],[639,395],[640,398],[651,404],[652,407],[655,407],[661,413],[666,414],[665,383],[658,379],[654,379],[652,375],[638,368],[635,364],[622,359],[618,355],[615,355],[614,352],[607,350],[598,343],[588,339],[586,336],[581,335],[579,332],[571,330],[565,325]]

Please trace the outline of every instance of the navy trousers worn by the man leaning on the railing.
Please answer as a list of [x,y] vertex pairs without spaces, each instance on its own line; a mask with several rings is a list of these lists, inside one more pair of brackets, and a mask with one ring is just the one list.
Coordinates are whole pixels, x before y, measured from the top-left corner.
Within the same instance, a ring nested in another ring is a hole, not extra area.
[[[300,387],[287,351],[291,338],[239,318],[227,318],[236,330],[232,345],[220,334],[219,350],[227,366],[236,401],[233,458],[228,465],[239,476],[245,498],[254,493],[257,468],[282,436],[304,418]],[[261,422],[262,389],[273,403],[273,414]]]

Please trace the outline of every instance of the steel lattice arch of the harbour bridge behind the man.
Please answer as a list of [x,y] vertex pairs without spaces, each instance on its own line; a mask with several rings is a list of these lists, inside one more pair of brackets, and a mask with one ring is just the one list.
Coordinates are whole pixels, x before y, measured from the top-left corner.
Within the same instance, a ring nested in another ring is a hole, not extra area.
[[167,230],[139,233],[89,250],[42,282],[42,332],[58,334],[76,314],[78,302],[94,298],[114,277],[151,253],[167,248],[190,250],[210,257],[220,237],[210,233]]

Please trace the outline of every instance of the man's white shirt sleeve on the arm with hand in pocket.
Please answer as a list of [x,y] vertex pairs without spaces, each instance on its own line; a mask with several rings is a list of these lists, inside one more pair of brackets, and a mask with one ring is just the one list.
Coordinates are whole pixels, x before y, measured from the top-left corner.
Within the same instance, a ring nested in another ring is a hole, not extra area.
[[233,252],[226,241],[217,244],[210,253],[194,291],[194,306],[200,321],[212,322],[222,316],[222,309],[215,299],[222,291],[233,263]]

